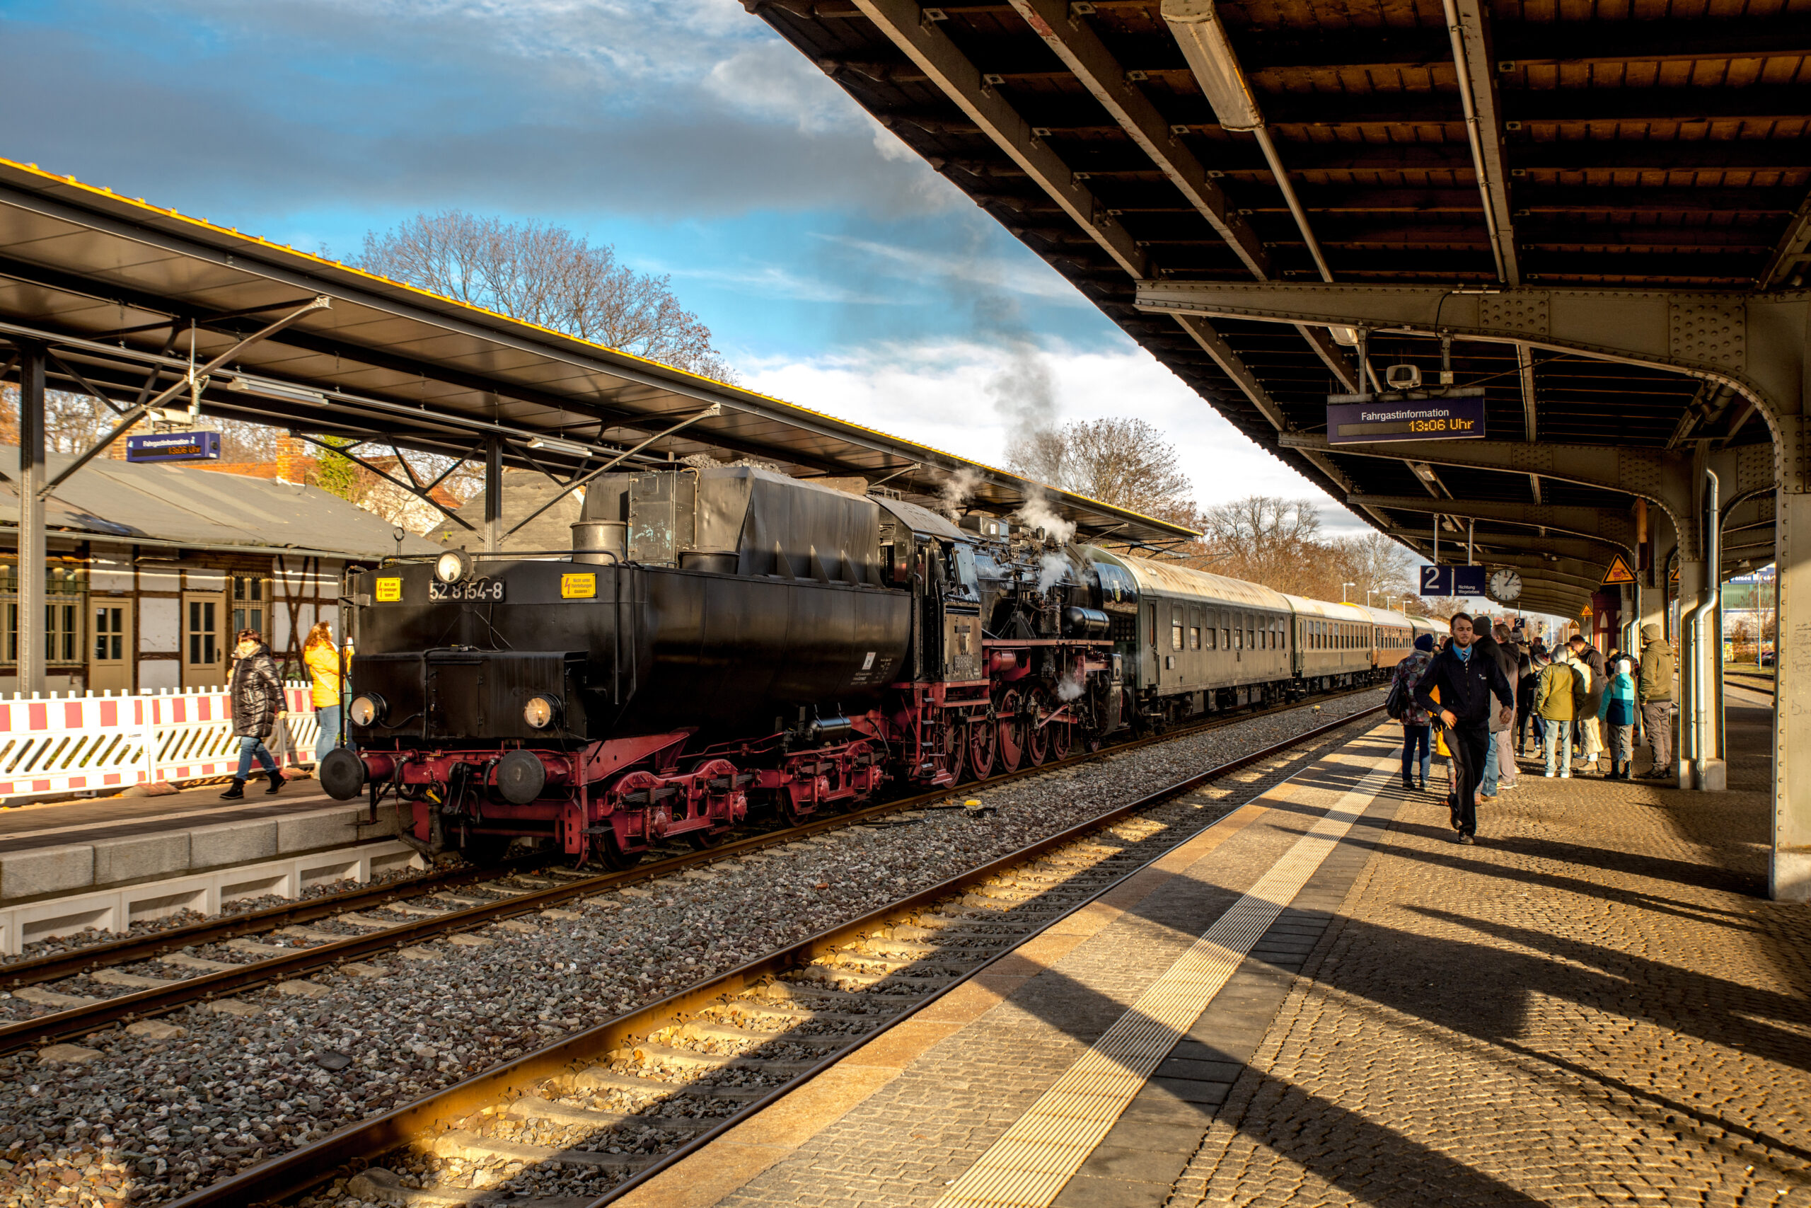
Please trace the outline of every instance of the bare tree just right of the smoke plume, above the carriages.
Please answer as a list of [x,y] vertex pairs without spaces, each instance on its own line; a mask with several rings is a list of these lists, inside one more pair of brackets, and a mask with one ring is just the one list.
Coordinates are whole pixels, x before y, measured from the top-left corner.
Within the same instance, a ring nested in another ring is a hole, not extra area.
[[1146,420],[1108,417],[1038,431],[1011,451],[1007,465],[1114,507],[1175,523],[1195,520],[1175,446]]

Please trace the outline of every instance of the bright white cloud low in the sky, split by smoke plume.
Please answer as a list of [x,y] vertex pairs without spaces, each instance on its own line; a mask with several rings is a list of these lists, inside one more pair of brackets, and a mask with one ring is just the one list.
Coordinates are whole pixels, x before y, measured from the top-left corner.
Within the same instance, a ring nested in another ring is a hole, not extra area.
[[[1329,534],[1364,523],[1260,449],[1139,348],[1036,353],[1052,382],[1056,420],[1130,415],[1163,429],[1203,505],[1246,494],[1313,498]],[[877,344],[808,359],[739,357],[744,384],[838,418],[918,440],[989,465],[1009,460],[1011,424],[996,406],[1001,375],[1021,371],[1023,350],[967,340]]]

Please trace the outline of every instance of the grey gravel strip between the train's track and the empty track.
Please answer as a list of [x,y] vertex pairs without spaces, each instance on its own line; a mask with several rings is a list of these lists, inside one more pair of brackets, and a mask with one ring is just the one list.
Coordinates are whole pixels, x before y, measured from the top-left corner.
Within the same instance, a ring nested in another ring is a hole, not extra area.
[[188,1007],[161,1020],[179,1036],[96,1032],[80,1063],[0,1058],[0,1208],[181,1195],[1380,699],[991,788],[976,793],[989,813],[925,810],[603,893],[319,974],[302,992],[246,992],[243,1016]]

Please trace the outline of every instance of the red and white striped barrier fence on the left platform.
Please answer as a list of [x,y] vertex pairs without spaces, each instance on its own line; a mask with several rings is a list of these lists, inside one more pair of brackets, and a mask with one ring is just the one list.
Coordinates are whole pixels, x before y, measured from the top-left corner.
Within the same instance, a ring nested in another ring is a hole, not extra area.
[[[264,743],[279,764],[313,762],[321,724],[310,688],[288,683],[284,695],[290,715]],[[0,799],[205,781],[237,770],[232,697],[223,688],[0,697]]]

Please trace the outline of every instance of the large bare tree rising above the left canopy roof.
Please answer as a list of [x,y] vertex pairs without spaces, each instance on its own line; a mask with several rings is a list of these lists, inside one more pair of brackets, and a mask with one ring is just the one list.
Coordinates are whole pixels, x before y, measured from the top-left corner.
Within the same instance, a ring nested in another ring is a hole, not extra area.
[[549,223],[442,210],[368,232],[366,272],[484,306],[637,357],[735,380],[710,328],[685,310],[668,277],[618,263],[616,248]]

